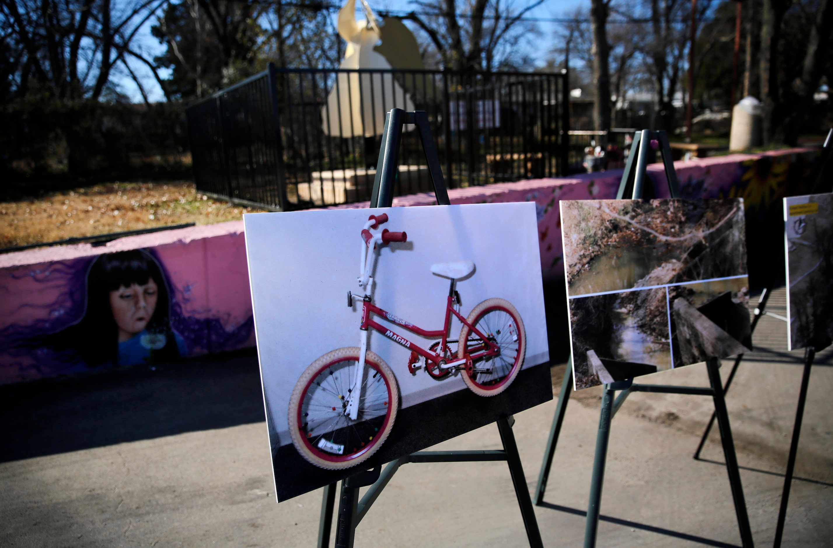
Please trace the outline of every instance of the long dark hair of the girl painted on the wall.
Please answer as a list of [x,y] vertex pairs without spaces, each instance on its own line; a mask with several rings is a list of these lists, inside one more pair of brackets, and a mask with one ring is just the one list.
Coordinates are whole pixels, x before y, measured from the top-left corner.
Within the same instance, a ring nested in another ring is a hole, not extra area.
[[118,326],[112,316],[110,291],[134,283],[143,286],[151,278],[156,282],[159,292],[156,309],[146,329],[167,337],[165,346],[160,351],[154,351],[154,358],[179,356],[171,330],[171,301],[167,280],[153,257],[142,250],[108,253],[97,257],[87,272],[87,306],[81,320],[46,336],[44,343],[62,354],[64,351],[76,351],[77,356],[90,367],[107,363],[117,365]]

